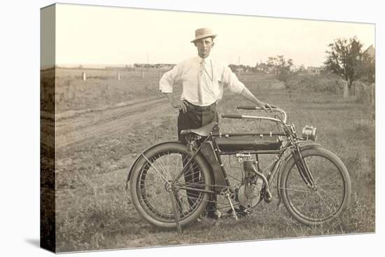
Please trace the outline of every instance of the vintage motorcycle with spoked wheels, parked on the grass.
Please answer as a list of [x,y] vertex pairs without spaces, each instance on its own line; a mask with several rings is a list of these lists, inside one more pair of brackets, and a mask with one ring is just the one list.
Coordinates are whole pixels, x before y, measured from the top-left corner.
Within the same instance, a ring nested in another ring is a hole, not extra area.
[[[237,109],[261,110],[256,106]],[[222,133],[213,122],[183,130],[187,145],[166,141],[146,149],[134,161],[126,181],[139,215],[155,226],[181,232],[181,227],[200,218],[208,202],[222,197],[237,219],[239,209],[250,213],[260,202],[272,201],[274,177],[278,205],[282,201],[300,223],[317,225],[341,214],[351,196],[344,163],[319,144],[309,143],[317,139],[316,127],[306,125],[298,135],[295,126],[286,123],[286,111],[274,107],[271,112],[274,118],[222,117],[267,120],[276,123],[276,131]],[[221,158],[224,155],[237,159],[238,183],[230,181],[232,176]],[[260,168],[260,155],[275,155],[267,172]]]

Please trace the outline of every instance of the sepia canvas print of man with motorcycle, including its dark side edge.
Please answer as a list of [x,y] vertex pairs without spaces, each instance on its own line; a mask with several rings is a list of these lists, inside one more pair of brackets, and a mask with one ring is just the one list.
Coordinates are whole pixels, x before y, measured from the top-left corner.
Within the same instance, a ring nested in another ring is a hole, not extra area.
[[374,23],[40,15],[42,248],[375,232]]

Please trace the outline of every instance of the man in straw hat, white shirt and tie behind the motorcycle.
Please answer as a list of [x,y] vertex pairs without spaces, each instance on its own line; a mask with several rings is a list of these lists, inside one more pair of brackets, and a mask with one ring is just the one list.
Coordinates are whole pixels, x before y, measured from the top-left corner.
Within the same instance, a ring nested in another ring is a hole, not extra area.
[[[174,108],[179,109],[178,139],[183,144],[187,142],[181,130],[203,127],[212,121],[218,122],[216,104],[222,99],[223,85],[227,85],[231,92],[245,97],[256,106],[265,110],[271,109],[269,104],[260,102],[228,66],[209,56],[216,36],[211,29],[197,29],[195,39],[191,43],[197,48],[198,56],[176,64],[174,69],[166,72],[160,79],[160,91],[167,96]],[[179,100],[175,100],[172,95],[176,81],[181,81],[183,85]],[[188,176],[185,176],[185,179],[188,179]],[[215,217],[219,214],[218,211],[209,211],[209,216]]]

